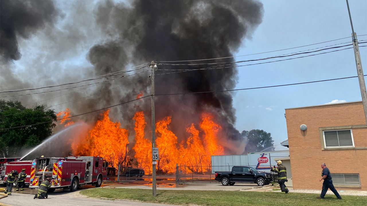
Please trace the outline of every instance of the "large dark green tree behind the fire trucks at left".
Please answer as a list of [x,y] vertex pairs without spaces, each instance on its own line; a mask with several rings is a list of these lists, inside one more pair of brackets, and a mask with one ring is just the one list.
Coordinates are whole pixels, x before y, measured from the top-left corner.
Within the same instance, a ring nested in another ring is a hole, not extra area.
[[[19,157],[22,149],[40,144],[52,135],[56,120],[55,111],[44,105],[26,108],[18,100],[0,100],[0,157]],[[18,126],[24,127],[12,128]]]

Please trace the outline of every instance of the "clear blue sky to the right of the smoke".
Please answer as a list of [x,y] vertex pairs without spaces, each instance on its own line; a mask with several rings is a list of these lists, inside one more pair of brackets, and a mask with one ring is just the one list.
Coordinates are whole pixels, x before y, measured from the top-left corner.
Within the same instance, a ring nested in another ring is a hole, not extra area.
[[[337,1],[262,1],[263,22],[251,40],[246,40],[236,55],[254,54],[292,48],[338,38],[350,37],[352,30],[345,0]],[[367,34],[367,1],[349,1],[354,30]],[[367,36],[358,37],[366,40]],[[352,41],[352,38],[309,47],[239,57],[236,60],[258,59],[288,54],[310,48]],[[360,48],[364,74],[367,74],[367,49]],[[353,49],[276,63],[239,67],[236,88],[326,80],[356,76]],[[365,78],[366,79],[366,78]],[[236,128],[240,131],[264,129],[272,133],[275,145],[287,139],[284,108],[312,106],[332,100],[360,101],[357,78],[287,87],[236,92]]]

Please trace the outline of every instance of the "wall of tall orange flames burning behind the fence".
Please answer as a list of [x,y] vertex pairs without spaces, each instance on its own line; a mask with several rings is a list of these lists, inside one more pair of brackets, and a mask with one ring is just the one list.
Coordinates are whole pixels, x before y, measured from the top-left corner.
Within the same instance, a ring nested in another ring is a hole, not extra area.
[[[121,128],[119,122],[112,122],[108,117],[109,110],[103,114],[83,141],[72,143],[76,155],[99,155],[105,157],[110,165],[117,166],[124,161],[127,150],[128,130]],[[152,143],[150,135],[145,136],[146,121],[143,111],[135,113],[135,151],[134,167],[143,168],[146,173],[152,168]],[[170,130],[171,116],[156,122],[156,147],[159,148],[157,170],[160,173],[174,173],[175,166],[188,165],[186,170],[196,173],[206,172],[210,165],[211,155],[224,154],[219,144],[218,132],[221,126],[214,122],[210,113],[203,113],[198,127],[191,124],[186,131],[188,137],[178,143],[178,137]],[[149,134],[149,133],[148,133]],[[80,143],[81,142],[81,143]],[[127,156],[129,153],[127,153]]]

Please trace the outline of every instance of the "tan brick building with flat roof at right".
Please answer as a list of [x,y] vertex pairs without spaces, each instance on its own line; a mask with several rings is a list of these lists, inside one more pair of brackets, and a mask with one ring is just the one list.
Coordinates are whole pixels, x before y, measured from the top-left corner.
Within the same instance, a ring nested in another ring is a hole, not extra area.
[[367,190],[367,125],[361,101],[288,108],[285,116],[294,189],[321,189],[324,162],[338,190]]

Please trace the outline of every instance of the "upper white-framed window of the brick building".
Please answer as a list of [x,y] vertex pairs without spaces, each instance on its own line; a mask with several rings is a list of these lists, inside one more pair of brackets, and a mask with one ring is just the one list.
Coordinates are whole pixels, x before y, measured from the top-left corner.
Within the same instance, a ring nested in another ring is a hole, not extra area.
[[323,131],[325,148],[354,147],[351,129]]

